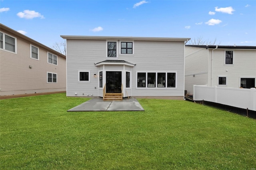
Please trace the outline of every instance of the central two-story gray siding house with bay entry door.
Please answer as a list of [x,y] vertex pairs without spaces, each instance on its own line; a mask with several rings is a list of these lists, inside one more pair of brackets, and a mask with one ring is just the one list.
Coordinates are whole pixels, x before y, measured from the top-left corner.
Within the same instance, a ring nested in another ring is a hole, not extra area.
[[189,38],[61,37],[67,42],[67,96],[184,99]]

